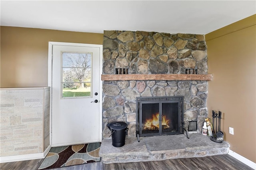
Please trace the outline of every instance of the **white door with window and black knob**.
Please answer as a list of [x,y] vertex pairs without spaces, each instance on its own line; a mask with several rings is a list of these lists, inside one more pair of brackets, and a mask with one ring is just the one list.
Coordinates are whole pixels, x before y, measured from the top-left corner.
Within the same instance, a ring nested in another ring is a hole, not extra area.
[[[52,46],[52,146],[100,141],[100,47]],[[98,102],[97,102],[98,101]]]

